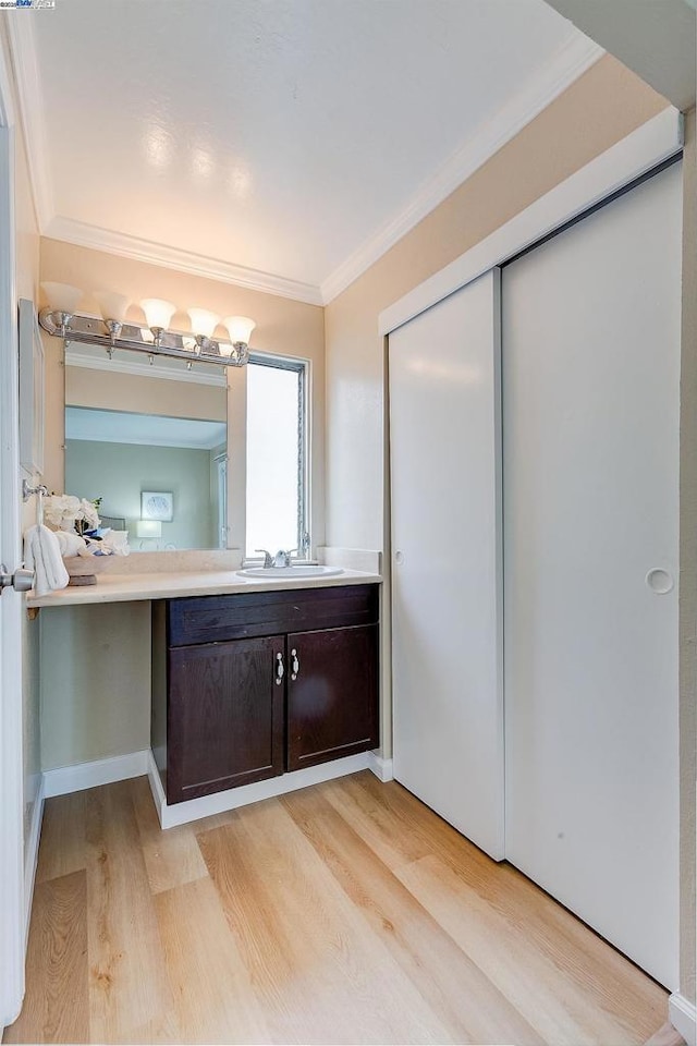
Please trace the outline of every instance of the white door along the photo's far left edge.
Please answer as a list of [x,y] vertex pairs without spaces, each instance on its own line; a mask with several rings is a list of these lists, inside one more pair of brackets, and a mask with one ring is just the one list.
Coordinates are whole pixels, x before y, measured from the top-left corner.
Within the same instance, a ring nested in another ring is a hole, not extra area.
[[[21,561],[19,363],[14,222],[16,112],[0,50],[0,547],[10,570]],[[0,1027],[19,1015],[26,946],[23,829],[22,596],[0,610]]]

